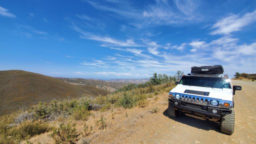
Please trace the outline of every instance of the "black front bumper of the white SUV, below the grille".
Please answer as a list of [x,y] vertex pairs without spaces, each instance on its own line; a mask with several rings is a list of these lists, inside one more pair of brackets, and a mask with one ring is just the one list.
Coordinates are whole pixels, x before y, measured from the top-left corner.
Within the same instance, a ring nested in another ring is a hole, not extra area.
[[[205,105],[199,105],[199,104],[191,104],[185,101],[179,101],[172,98],[169,98],[168,101],[169,101],[169,104],[172,104],[173,108],[178,111],[199,116],[211,121],[218,121],[222,115],[229,114],[232,112],[231,109],[217,108],[217,107],[211,107],[211,106],[205,106]],[[174,104],[174,102],[177,102],[177,104]],[[217,112],[212,113],[213,109],[215,109]]]

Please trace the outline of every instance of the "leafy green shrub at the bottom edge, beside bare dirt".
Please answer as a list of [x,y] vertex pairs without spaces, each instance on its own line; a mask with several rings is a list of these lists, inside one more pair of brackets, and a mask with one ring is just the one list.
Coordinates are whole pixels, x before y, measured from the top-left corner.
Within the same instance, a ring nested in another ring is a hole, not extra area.
[[75,124],[69,123],[61,123],[58,128],[55,128],[53,132],[50,134],[50,137],[53,138],[55,143],[75,143],[77,141],[77,137],[80,134],[77,133]]

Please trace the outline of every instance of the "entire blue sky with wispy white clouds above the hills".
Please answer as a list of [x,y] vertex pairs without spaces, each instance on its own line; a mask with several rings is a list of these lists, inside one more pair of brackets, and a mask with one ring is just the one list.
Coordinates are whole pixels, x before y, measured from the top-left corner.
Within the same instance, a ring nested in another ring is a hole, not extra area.
[[256,0],[1,0],[0,70],[143,78],[256,73]]

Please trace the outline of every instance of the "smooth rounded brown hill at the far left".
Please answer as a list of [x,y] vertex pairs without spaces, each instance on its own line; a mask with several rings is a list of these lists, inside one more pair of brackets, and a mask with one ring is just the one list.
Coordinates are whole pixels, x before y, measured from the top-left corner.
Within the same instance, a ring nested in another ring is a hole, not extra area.
[[0,114],[30,106],[39,101],[74,98],[82,94],[107,94],[90,85],[74,85],[57,78],[22,70],[0,71]]

